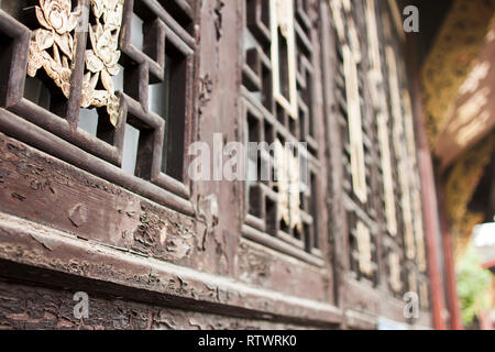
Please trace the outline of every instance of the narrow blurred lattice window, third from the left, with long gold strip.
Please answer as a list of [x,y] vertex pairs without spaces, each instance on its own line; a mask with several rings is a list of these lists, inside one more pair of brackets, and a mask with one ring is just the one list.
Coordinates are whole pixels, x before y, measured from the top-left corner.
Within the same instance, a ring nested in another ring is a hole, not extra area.
[[[351,271],[358,278],[377,284],[377,210],[380,150],[377,122],[366,92],[367,55],[362,3],[331,0],[336,32],[336,98],[343,146],[345,207],[351,251]],[[365,227],[367,231],[359,230]],[[370,246],[360,246],[359,233],[370,233]],[[363,253],[363,249],[366,253]],[[371,252],[367,252],[367,251]],[[363,271],[360,257],[371,257],[372,272]]]

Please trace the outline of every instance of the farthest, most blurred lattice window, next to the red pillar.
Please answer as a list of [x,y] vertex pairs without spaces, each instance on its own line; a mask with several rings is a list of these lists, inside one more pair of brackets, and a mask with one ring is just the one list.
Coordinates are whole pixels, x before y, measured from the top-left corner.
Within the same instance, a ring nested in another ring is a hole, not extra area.
[[[392,21],[397,14],[397,9],[382,8],[382,18],[378,19],[375,11],[378,6],[383,3],[367,0],[370,28],[377,29],[378,35],[380,29],[383,28],[381,41],[370,38],[370,46],[373,47],[370,61],[375,68],[370,72],[370,81],[378,119],[383,119],[380,114],[385,116],[384,121],[380,122],[378,133],[383,134],[383,141],[387,135],[389,140],[389,152],[383,142],[381,151],[388,234],[384,241],[385,253],[388,256],[388,282],[391,290],[397,298],[406,290],[415,292],[420,297],[421,307],[427,308],[429,299],[426,246],[413,109],[405,84],[406,69],[399,66],[398,61],[403,53],[403,42],[393,31]],[[374,31],[371,30],[369,33],[373,34]],[[382,62],[385,64],[382,65]],[[381,73],[377,72],[377,67],[382,67]],[[386,165],[388,162],[384,163],[384,158],[389,158],[391,167]],[[392,179],[387,174],[392,174]],[[387,206],[392,200],[396,209],[395,215]],[[391,227],[391,223],[395,227]],[[394,260],[391,260],[391,256]]]

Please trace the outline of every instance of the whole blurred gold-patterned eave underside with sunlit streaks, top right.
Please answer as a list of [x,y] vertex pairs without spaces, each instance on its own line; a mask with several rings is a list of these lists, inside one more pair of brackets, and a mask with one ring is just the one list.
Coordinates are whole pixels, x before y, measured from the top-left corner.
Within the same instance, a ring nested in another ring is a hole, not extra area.
[[443,168],[495,127],[494,14],[493,0],[455,0],[422,67],[428,138]]

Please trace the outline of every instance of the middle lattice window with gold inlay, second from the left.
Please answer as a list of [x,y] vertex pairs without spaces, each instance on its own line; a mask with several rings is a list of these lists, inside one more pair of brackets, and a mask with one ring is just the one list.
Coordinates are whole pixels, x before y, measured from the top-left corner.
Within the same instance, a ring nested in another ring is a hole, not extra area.
[[[243,232],[252,240],[321,264],[314,99],[316,30],[311,22],[316,14],[310,14],[311,3],[245,1],[242,114],[246,142],[266,142],[272,148],[262,148],[250,158],[249,174],[253,177],[246,186]],[[306,142],[307,147],[289,152],[280,147],[299,142]],[[258,177],[262,165],[272,165],[272,177]],[[301,165],[308,165],[307,173]]]

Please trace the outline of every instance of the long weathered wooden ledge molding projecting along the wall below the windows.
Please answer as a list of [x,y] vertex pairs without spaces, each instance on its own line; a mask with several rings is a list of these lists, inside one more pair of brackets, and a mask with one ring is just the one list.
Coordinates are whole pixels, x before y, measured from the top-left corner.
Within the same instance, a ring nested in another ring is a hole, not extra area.
[[[65,275],[68,274],[72,279],[78,276],[98,283],[95,288],[101,293],[127,298],[139,295],[153,305],[184,308],[196,304],[199,311],[228,316],[245,316],[249,312],[253,318],[276,317],[283,321],[298,320],[323,327],[342,321],[341,309],[328,302],[253,287],[165,261],[150,261],[101,242],[85,241],[72,233],[2,212],[0,239],[2,262],[30,265],[32,271],[50,271],[52,284],[61,275],[67,278]],[[14,255],[13,248],[24,255]],[[102,271],[102,267],[106,270]],[[41,276],[38,278],[42,279]],[[187,284],[184,285],[187,289],[179,289],[178,282]]]

